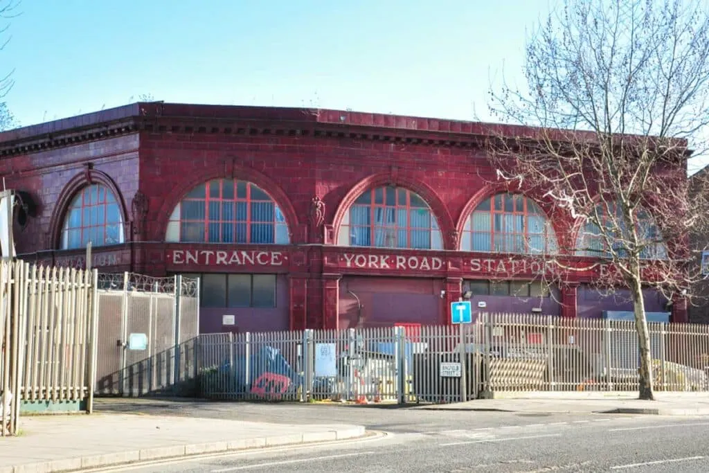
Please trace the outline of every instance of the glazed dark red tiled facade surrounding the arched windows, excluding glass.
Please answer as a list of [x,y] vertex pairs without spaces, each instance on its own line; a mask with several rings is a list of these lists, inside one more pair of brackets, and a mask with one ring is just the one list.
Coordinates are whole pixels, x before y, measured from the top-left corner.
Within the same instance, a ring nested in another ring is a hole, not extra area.
[[[513,287],[543,269],[520,255],[461,250],[471,213],[507,190],[495,182],[479,145],[485,133],[479,123],[433,118],[139,103],[1,133],[0,174],[7,187],[27,192],[37,204],[26,226],[14,228],[17,252],[26,260],[85,265],[84,250],[62,250],[62,238],[77,195],[98,186],[115,196],[123,241],[94,247],[92,264],[100,271],[274,275],[273,307],[204,307],[203,331],[225,329],[222,316],[228,314],[238,330],[437,324],[448,323],[450,303],[476,282]],[[288,243],[167,241],[177,204],[215,179],[251,183],[268,194],[287,225]],[[435,218],[427,231],[440,235],[439,247],[343,245],[340,228],[356,223],[349,220],[350,208],[379,187],[407,191],[407,205],[415,196],[423,199]],[[546,214],[559,247],[573,247],[575,223],[540,196],[527,198]],[[472,300],[485,302],[487,311],[540,306],[564,317],[627,310],[630,304],[584,296],[586,284],[603,270],[574,272],[541,305],[531,293],[525,299],[497,289],[474,291]],[[257,283],[251,284],[255,291]],[[664,311],[666,301],[652,294],[648,299],[648,310]],[[671,318],[686,320],[683,301],[674,301]]]

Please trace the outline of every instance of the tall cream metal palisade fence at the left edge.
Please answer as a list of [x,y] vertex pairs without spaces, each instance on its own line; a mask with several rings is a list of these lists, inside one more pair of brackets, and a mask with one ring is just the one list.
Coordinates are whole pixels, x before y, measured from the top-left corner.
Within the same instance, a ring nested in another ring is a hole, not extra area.
[[96,272],[0,262],[0,434],[21,403],[78,402],[91,411]]

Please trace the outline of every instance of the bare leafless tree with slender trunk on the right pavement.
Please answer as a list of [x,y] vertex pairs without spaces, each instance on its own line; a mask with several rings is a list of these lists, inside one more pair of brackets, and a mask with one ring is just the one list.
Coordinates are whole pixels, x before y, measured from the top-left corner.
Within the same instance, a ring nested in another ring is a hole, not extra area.
[[527,42],[526,87],[491,90],[496,118],[537,127],[493,126],[498,179],[547,199],[578,231],[557,267],[603,262],[597,284],[629,289],[640,399],[654,399],[643,289],[686,294],[701,277],[689,237],[709,230],[707,194],[690,194],[686,178],[690,145],[705,150],[709,131],[706,6],[564,0]]

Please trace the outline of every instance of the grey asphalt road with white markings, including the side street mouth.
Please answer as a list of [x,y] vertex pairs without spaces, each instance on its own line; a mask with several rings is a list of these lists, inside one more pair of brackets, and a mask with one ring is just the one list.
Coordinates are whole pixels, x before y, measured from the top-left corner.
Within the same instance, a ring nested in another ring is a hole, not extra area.
[[[709,417],[522,415],[288,404],[109,402],[103,411],[367,425],[386,435],[121,471],[708,472]],[[116,470],[118,471],[118,470]]]

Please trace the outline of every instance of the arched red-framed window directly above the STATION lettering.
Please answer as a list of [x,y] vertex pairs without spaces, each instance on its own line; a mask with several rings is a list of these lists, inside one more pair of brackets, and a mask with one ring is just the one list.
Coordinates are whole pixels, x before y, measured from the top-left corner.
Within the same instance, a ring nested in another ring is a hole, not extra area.
[[465,222],[460,249],[540,254],[557,251],[557,237],[542,209],[520,194],[496,194]]

